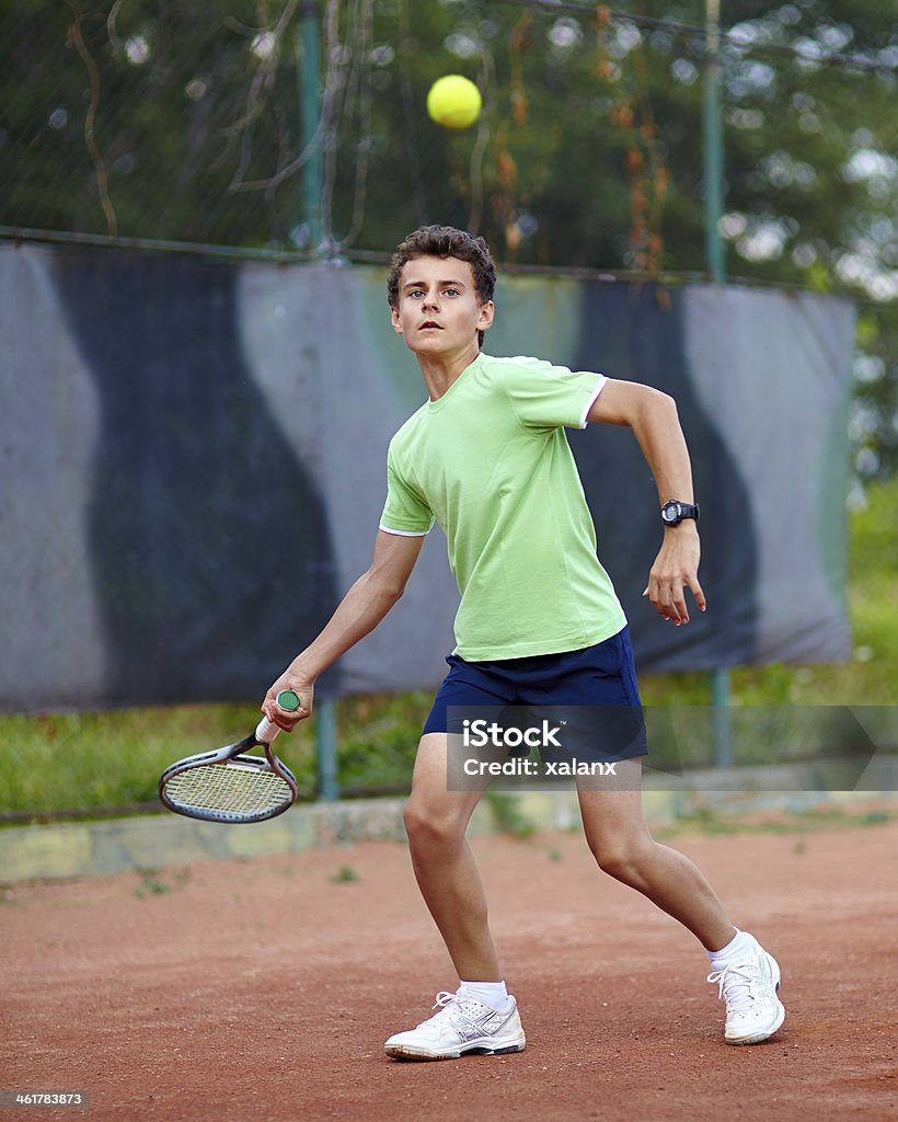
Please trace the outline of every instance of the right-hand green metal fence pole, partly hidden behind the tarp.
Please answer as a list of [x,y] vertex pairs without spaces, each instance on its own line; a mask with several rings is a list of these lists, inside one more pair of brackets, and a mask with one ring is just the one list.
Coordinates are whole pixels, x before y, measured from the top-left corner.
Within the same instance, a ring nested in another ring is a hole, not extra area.
[[[705,260],[712,283],[725,284],[723,239],[720,233],[720,220],[723,217],[720,0],[705,0],[705,48],[702,98]],[[730,724],[730,671],[726,666],[716,666],[711,671],[711,703],[713,707],[714,766],[730,767],[733,760]]]

